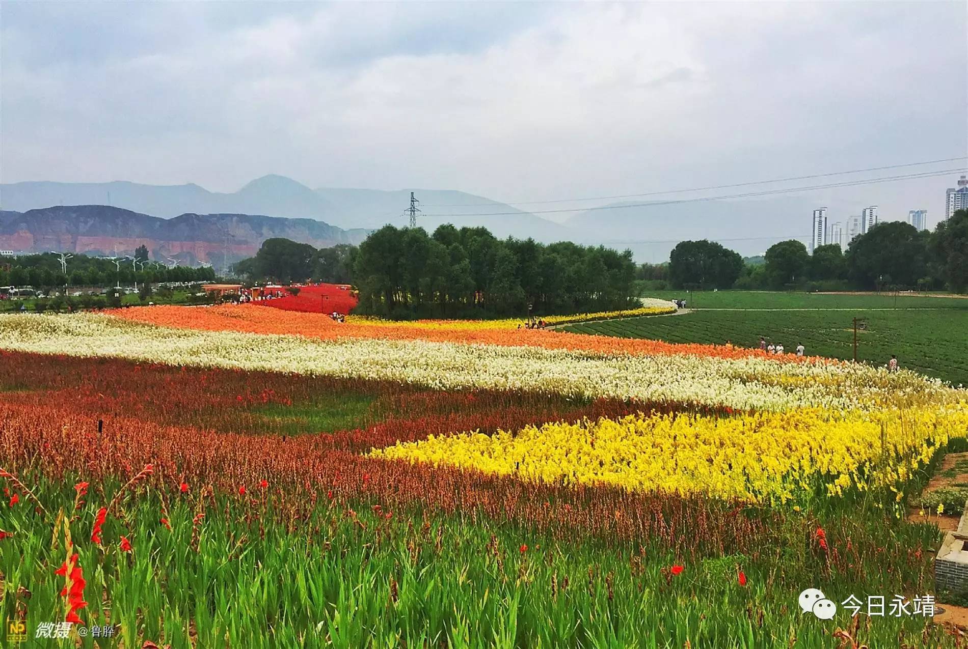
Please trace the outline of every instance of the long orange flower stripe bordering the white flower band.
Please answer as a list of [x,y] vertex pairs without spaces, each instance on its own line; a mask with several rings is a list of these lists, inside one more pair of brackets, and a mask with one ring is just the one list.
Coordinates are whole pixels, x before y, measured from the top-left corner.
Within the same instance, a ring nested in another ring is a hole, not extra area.
[[[261,309],[253,305],[218,307],[139,307],[107,311],[110,315],[133,322],[161,327],[203,331],[237,331],[250,334],[296,335],[315,339],[392,339],[466,342],[501,346],[531,346],[544,349],[568,349],[604,354],[688,354],[715,358],[762,357],[777,362],[796,362],[793,354],[770,356],[759,349],[673,343],[661,340],[618,339],[608,336],[568,334],[539,329],[469,329],[467,321],[440,321],[439,327],[414,327],[407,323],[387,321],[354,324],[335,322],[325,313],[306,313]],[[453,323],[448,325],[448,322]]]

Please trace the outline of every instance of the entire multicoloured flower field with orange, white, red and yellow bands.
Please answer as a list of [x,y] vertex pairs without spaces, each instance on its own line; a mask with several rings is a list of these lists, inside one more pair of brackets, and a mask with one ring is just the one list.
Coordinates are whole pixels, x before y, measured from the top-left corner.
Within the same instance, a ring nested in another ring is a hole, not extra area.
[[257,305],[0,315],[0,367],[2,615],[75,646],[961,642],[797,605],[933,592],[968,394],[914,372]]

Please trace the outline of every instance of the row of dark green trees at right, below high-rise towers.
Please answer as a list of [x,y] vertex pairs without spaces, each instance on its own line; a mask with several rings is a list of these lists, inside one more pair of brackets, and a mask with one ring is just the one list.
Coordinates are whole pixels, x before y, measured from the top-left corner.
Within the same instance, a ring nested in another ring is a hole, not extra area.
[[673,288],[968,289],[968,210],[959,210],[933,232],[885,221],[841,251],[832,244],[811,255],[800,241],[781,241],[762,259],[711,241],[683,241],[667,264],[643,264],[636,279]]

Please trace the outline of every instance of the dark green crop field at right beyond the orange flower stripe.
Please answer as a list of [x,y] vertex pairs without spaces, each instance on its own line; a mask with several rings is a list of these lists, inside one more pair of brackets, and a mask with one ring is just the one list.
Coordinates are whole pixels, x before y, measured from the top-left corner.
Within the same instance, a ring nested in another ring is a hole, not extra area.
[[590,322],[565,331],[670,342],[730,341],[746,347],[757,346],[763,336],[782,343],[787,352],[802,343],[808,355],[850,359],[853,318],[859,317],[867,321],[858,333],[858,360],[885,365],[896,354],[901,367],[968,384],[968,300],[898,297],[899,304],[917,306],[897,310],[881,306],[885,300],[893,297],[710,292],[694,296],[700,309],[692,312]]

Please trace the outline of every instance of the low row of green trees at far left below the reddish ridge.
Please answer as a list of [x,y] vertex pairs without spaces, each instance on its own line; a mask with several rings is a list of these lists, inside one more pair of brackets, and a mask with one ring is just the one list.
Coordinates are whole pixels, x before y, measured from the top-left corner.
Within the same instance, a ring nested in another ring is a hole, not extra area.
[[136,251],[137,266],[129,259],[120,269],[110,259],[76,254],[67,260],[67,274],[62,270],[60,255],[51,252],[0,258],[0,286],[113,286],[116,283],[152,283],[161,281],[212,281],[211,267],[166,268],[158,263],[148,264],[148,251],[143,246]]

